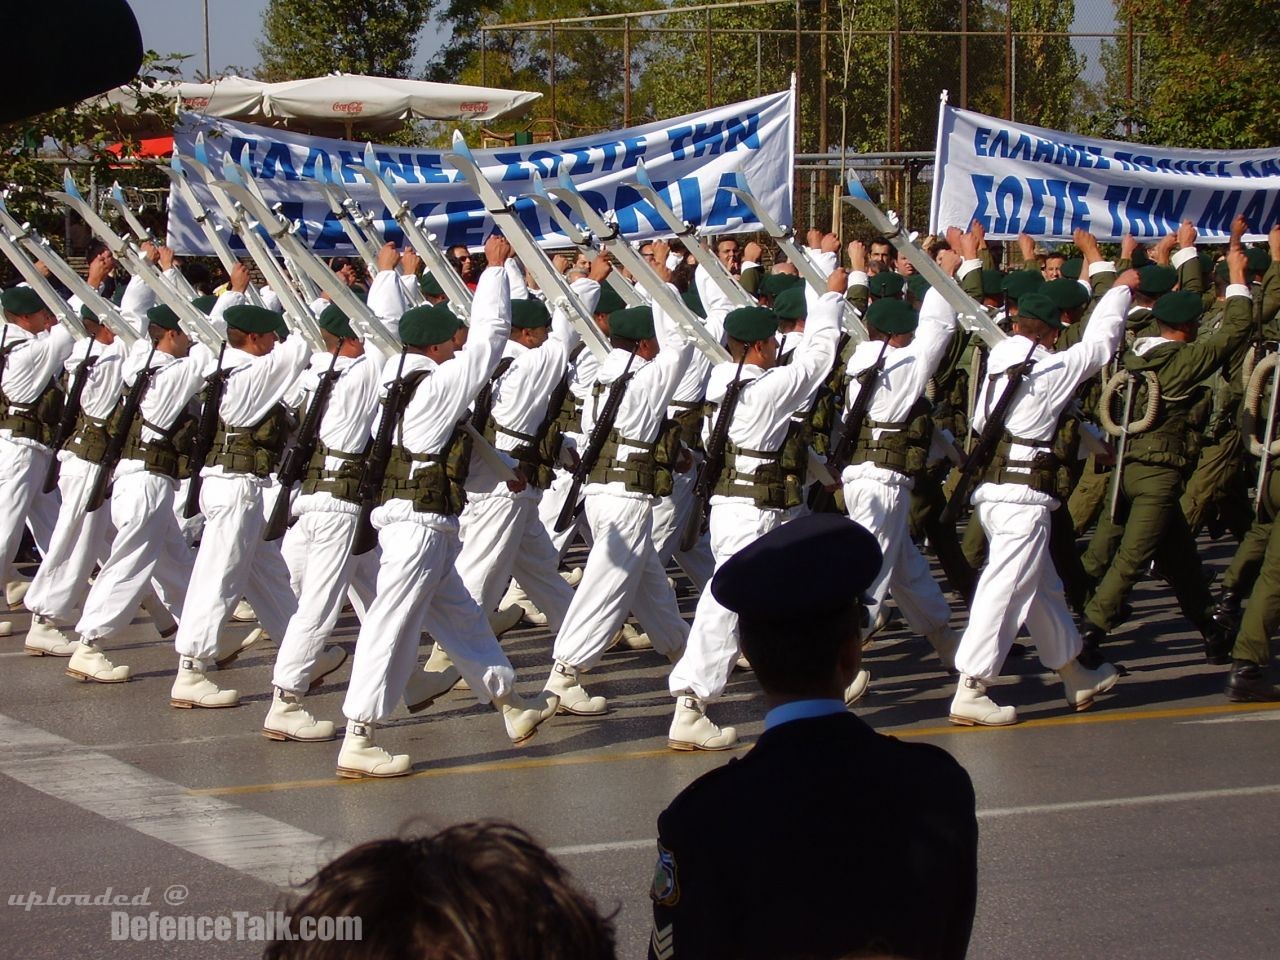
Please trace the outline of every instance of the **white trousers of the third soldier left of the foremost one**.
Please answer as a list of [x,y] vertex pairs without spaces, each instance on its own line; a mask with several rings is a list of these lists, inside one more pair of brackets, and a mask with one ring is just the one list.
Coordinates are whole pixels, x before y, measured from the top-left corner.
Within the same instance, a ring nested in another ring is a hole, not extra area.
[[175,488],[169,477],[146,470],[115,477],[111,485],[115,539],[76,625],[76,632],[84,639],[99,641],[128,626],[148,584],[155,586],[165,609],[182,620],[196,554],[173,511]]

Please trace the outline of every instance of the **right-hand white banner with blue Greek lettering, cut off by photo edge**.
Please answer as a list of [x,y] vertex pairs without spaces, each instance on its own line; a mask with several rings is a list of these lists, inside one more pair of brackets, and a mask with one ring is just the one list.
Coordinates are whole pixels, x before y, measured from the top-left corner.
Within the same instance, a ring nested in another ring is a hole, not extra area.
[[1019,233],[1101,241],[1149,238],[1190,220],[1225,239],[1240,214],[1245,239],[1280,223],[1280,147],[1175,150],[1093,140],[957,110],[938,115],[929,230],[978,220],[993,239]]

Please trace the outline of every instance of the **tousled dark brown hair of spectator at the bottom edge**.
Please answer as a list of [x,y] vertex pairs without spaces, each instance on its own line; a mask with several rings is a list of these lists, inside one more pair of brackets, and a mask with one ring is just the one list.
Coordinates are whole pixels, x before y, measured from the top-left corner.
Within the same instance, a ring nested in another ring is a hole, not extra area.
[[527,833],[463,823],[375,840],[321,868],[289,915],[358,916],[361,940],[280,941],[264,960],[613,960],[613,924]]

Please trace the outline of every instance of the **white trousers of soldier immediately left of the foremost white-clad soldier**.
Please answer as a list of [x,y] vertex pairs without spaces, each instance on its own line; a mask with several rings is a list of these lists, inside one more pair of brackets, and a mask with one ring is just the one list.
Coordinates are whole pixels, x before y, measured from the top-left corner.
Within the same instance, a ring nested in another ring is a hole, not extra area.
[[316,658],[324,649],[342,612],[347,576],[355,558],[351,540],[358,515],[339,511],[308,511],[285,534],[291,553],[298,558],[298,609],[280,640],[271,684],[289,694],[306,694]]

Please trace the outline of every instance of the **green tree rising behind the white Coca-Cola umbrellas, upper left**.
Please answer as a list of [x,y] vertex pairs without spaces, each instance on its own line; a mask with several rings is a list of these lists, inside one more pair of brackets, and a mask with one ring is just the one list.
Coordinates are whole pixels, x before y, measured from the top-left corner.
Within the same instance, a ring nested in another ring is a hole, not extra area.
[[408,77],[434,0],[270,0],[257,41],[259,79],[333,70]]

